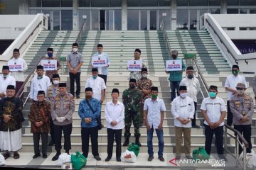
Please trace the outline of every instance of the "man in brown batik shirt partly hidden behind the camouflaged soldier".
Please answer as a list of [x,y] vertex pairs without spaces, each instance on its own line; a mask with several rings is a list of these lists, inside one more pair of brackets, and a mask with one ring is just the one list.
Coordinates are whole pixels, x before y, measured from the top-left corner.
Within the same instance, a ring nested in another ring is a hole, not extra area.
[[153,86],[153,83],[151,79],[147,78],[148,72],[146,68],[142,68],[142,78],[140,78],[137,81],[137,86],[140,91],[142,91],[142,107],[140,111],[140,121],[139,121],[139,126],[142,126],[143,120],[144,120],[144,101],[146,98],[150,98],[151,94],[151,87]]

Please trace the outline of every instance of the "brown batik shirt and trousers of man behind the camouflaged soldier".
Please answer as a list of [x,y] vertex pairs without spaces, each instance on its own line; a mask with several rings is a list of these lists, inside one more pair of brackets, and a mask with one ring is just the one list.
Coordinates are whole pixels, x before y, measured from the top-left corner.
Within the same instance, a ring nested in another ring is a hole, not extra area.
[[[151,79],[148,78],[144,78],[142,77],[141,79],[139,79],[137,81],[137,86],[139,88],[139,90],[151,90],[151,87],[153,86],[153,83],[151,81]],[[142,92],[142,106],[140,108],[140,124],[142,125],[143,120],[144,120],[144,111],[143,111],[143,106],[144,106],[144,101],[146,100],[146,98],[150,98],[150,93],[149,94],[144,94]]]

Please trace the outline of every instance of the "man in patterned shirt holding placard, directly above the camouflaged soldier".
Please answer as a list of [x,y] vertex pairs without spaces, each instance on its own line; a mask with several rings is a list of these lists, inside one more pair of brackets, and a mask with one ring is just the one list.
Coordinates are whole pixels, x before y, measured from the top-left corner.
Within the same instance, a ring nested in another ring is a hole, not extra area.
[[141,50],[139,50],[139,48],[135,49],[134,60],[129,60],[127,62],[127,69],[130,72],[128,80],[139,80],[140,78],[142,78],[142,68],[146,68],[146,62],[144,62],[144,60],[142,60],[142,58],[140,57],[141,54],[142,52]]

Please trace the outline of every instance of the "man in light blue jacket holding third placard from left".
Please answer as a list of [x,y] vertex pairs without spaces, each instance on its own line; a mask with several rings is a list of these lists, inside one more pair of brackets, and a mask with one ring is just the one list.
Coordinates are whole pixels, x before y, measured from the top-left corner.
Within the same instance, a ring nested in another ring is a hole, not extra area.
[[97,53],[92,55],[92,68],[96,67],[98,69],[98,76],[104,79],[105,84],[107,84],[107,73],[108,67],[110,66],[110,57],[107,53],[102,52],[103,45],[97,45]]

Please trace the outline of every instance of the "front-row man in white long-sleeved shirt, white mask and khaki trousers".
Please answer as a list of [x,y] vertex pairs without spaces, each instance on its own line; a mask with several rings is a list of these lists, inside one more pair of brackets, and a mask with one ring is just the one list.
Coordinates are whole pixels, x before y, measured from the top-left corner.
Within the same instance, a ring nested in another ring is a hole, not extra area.
[[174,115],[176,135],[176,159],[181,159],[182,134],[184,138],[185,154],[187,159],[191,157],[191,119],[195,113],[193,99],[188,97],[186,86],[179,86],[180,96],[174,98],[171,104],[171,114]]

